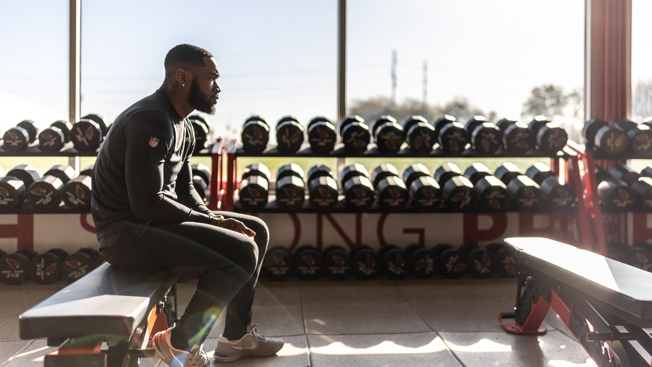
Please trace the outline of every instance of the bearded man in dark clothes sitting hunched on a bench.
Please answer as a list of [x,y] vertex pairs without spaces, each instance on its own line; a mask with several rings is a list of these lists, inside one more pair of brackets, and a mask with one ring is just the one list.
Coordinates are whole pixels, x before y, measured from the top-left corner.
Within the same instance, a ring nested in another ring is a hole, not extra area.
[[180,44],[164,65],[161,88],[115,119],[97,155],[92,212],[100,251],[112,266],[199,279],[176,327],[153,338],[169,366],[208,366],[203,342],[227,305],[215,359],[274,355],[283,341],[250,325],[267,225],[250,215],[213,214],[192,185],[195,136],[186,117],[215,113],[217,64],[208,51]]

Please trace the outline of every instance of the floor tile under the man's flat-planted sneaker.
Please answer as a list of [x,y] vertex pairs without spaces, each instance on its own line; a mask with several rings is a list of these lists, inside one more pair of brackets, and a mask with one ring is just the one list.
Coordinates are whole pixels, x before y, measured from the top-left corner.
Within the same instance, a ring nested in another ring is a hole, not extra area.
[[271,357],[250,357],[246,359],[236,360],[228,364],[221,364],[215,362],[213,359],[213,351],[217,346],[217,339],[211,338],[204,342],[207,355],[211,358],[211,366],[229,366],[229,367],[305,367],[310,366],[310,359],[308,357],[308,347],[306,345],[306,336],[288,336],[283,338],[285,345],[283,349],[278,351],[276,355]]

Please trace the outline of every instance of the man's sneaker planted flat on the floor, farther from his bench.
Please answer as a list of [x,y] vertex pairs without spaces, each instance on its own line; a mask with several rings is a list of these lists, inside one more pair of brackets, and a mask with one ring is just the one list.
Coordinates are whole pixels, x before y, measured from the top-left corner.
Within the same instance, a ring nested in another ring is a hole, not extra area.
[[267,357],[275,355],[284,345],[281,338],[266,338],[256,332],[256,325],[249,325],[250,331],[239,340],[231,342],[220,335],[215,348],[215,360],[218,362],[233,362],[244,357]]

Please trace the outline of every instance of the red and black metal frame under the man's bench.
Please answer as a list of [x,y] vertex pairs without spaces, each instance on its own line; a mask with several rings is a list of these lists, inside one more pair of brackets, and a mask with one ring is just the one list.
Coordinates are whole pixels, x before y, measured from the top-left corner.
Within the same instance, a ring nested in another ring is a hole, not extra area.
[[[173,298],[173,299],[172,299]],[[59,346],[45,356],[45,367],[93,366],[137,367],[141,358],[155,357],[151,348],[156,332],[173,327],[177,319],[177,287],[171,285],[160,300],[151,300],[147,317],[128,338],[89,335],[67,340],[48,338],[48,346]],[[108,349],[101,349],[103,343]]]

